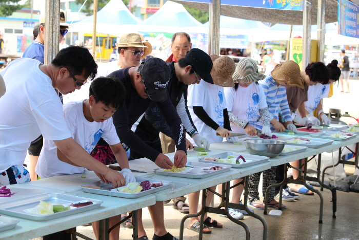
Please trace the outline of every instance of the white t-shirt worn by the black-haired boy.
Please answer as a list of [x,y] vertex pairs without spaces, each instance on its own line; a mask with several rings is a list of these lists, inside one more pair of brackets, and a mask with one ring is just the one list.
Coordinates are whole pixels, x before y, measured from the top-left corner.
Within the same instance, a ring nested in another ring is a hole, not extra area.
[[[75,142],[80,144],[89,154],[92,152],[99,138],[103,138],[109,145],[119,143],[112,118],[104,122],[89,122],[83,111],[83,101],[68,102],[64,105],[64,116]],[[83,173],[84,168],[75,167],[57,158],[57,148],[52,140],[45,139],[35,172],[41,178],[62,174]]]

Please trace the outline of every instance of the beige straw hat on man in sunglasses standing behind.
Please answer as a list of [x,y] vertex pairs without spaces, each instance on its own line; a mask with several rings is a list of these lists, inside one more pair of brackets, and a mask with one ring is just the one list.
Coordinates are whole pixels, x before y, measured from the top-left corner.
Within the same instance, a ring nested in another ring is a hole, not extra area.
[[152,45],[144,41],[144,38],[139,33],[127,33],[119,37],[119,42],[116,43],[116,47],[143,47],[145,53],[143,57],[146,57],[152,52]]

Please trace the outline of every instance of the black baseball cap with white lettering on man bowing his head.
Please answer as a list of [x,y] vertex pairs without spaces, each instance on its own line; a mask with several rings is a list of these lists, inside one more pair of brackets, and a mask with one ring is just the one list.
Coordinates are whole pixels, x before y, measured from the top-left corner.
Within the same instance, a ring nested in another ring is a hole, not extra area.
[[139,65],[138,71],[150,99],[154,102],[166,101],[170,70],[165,61],[159,58],[147,59],[145,63]]

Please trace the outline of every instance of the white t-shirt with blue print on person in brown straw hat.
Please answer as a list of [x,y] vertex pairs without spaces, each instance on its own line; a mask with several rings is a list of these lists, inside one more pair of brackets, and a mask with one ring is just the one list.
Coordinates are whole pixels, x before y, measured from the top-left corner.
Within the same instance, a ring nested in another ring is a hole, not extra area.
[[[187,100],[188,110],[198,133],[208,138],[210,143],[222,142],[223,138],[216,136],[216,131],[193,113],[193,106],[202,106],[213,121],[224,127],[223,109],[227,108],[227,104],[223,87],[205,81],[189,85]],[[188,138],[188,140],[194,144],[192,138]]]

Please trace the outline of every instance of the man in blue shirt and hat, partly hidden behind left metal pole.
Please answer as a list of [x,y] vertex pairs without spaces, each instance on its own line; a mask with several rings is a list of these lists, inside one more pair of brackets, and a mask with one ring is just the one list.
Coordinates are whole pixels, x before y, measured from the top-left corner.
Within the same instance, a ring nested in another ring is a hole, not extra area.
[[[45,15],[42,14],[40,16],[39,20],[40,24],[38,26],[38,33],[36,40],[33,41],[24,51],[23,58],[31,58],[36,59],[40,61],[42,64],[44,64],[44,43],[45,43]],[[58,35],[58,42],[61,43],[62,39],[68,32],[68,27],[71,27],[70,24],[66,23],[66,14],[65,11],[60,9],[60,31]],[[57,92],[58,97],[61,99],[61,102],[63,102],[62,94]],[[36,138],[33,142],[31,142],[31,145],[28,149],[29,152],[29,172],[31,176],[31,180],[34,181],[37,179],[37,175],[35,173],[36,163],[38,160],[38,156],[40,155],[41,149],[43,147],[43,136],[39,136]]]

